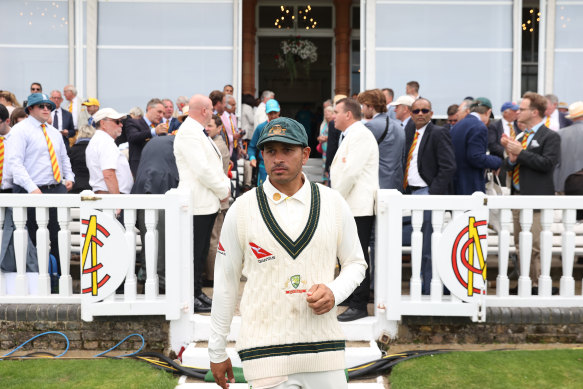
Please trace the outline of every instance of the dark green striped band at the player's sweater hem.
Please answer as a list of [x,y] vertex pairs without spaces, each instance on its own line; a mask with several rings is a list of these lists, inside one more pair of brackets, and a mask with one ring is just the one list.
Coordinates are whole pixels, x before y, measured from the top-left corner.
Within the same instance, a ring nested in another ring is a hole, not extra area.
[[313,354],[326,351],[343,351],[346,347],[343,340],[331,340],[313,343],[292,343],[276,346],[255,347],[247,350],[239,350],[241,361],[249,361],[257,358],[281,357],[294,354]]

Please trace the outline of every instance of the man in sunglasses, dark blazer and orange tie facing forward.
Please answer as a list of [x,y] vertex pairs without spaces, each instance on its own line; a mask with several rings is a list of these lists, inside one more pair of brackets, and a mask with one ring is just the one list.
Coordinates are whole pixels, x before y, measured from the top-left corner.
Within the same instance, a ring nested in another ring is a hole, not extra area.
[[[405,193],[413,195],[444,195],[455,173],[455,155],[449,131],[431,123],[431,102],[424,98],[415,100],[411,107],[411,120],[405,127],[404,164]],[[423,254],[421,262],[422,293],[430,293],[431,269],[431,211],[423,215]],[[436,283],[435,293],[441,288]]]

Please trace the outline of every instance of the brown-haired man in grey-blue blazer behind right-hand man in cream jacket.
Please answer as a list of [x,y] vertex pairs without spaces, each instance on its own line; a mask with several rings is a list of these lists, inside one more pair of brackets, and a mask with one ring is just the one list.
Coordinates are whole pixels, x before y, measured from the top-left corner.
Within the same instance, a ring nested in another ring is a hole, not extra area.
[[362,113],[369,121],[364,125],[374,135],[379,145],[379,187],[403,190],[403,159],[405,130],[387,114],[385,97],[378,89],[358,95]]

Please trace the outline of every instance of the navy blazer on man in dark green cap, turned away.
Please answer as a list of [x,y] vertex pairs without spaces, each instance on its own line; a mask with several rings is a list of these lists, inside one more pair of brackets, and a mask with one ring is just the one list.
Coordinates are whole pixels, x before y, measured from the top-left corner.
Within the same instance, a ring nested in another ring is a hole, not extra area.
[[488,150],[486,125],[470,114],[457,122],[450,134],[457,165],[453,176],[455,194],[471,195],[478,191],[485,192],[485,170],[496,170],[502,163],[502,158],[486,154]]

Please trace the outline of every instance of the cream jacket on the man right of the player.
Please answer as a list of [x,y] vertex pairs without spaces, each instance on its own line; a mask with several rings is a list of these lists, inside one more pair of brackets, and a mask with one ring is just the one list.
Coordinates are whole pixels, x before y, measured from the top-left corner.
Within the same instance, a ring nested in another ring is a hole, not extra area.
[[352,124],[330,166],[330,182],[354,216],[374,215],[379,189],[379,147],[372,132],[361,122]]

